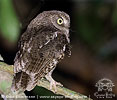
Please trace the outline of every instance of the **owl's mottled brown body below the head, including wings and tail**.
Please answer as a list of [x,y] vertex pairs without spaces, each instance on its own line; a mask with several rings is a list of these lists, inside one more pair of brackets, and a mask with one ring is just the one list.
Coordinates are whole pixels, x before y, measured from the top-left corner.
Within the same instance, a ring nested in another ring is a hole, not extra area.
[[39,79],[50,72],[63,59],[64,53],[70,54],[66,36],[57,32],[42,32],[33,37],[23,34],[20,49],[15,57],[12,89],[32,90]]

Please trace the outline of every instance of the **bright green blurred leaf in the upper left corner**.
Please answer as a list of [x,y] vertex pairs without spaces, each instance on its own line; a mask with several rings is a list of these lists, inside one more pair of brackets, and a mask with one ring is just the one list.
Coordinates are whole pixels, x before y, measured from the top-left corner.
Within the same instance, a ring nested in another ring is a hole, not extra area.
[[12,0],[0,0],[0,30],[2,36],[10,42],[16,42],[19,36],[19,21]]

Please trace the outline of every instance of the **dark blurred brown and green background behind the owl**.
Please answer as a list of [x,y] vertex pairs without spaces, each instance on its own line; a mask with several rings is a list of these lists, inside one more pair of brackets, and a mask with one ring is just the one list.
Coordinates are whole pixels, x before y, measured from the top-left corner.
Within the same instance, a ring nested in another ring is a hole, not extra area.
[[[116,0],[13,0],[13,5],[22,24],[21,34],[29,22],[42,11],[61,10],[68,13],[71,18],[72,55],[65,57],[57,65],[53,73],[54,79],[66,88],[90,96],[94,100],[102,100],[94,96],[98,91],[95,84],[100,79],[108,78],[114,83],[112,89],[117,96]],[[0,54],[6,63],[14,63],[16,52],[17,42],[12,44],[1,38]],[[54,95],[40,87],[26,91],[26,94]]]

